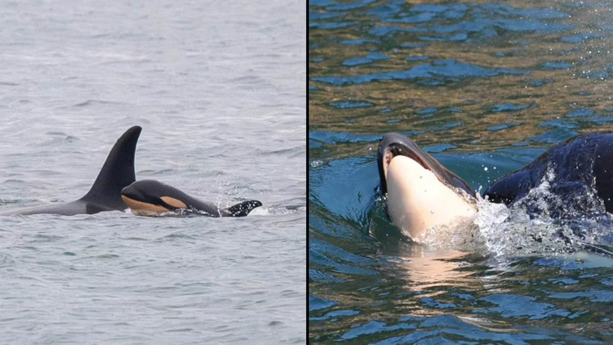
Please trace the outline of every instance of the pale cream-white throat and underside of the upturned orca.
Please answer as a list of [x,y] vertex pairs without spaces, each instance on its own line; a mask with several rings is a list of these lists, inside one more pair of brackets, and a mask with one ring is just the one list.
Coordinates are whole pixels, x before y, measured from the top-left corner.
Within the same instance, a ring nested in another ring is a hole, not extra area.
[[450,225],[476,212],[464,196],[443,184],[434,172],[405,156],[387,167],[387,212],[406,236],[419,239],[425,230]]

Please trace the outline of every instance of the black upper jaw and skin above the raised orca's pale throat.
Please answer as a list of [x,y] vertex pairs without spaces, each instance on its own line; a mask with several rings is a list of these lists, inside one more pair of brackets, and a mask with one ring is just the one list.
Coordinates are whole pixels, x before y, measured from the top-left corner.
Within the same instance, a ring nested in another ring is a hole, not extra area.
[[473,188],[466,183],[465,180],[454,174],[454,172],[445,168],[434,157],[417,146],[411,139],[398,133],[388,133],[381,139],[379,149],[377,150],[377,166],[379,168],[379,180],[381,182],[381,193],[387,193],[387,183],[385,172],[383,171],[383,163],[386,159],[386,153],[391,153],[391,157],[403,155],[411,158],[421,164],[425,169],[428,169],[438,177],[438,179],[446,185],[455,188],[462,188],[469,195],[475,197]]

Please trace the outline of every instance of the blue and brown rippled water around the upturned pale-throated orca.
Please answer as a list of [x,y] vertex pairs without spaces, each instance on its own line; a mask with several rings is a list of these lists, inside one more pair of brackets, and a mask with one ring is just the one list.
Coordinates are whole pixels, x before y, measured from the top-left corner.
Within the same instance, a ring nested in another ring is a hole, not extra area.
[[611,215],[482,201],[476,227],[416,243],[376,193],[389,132],[483,192],[612,131],[612,18],[598,1],[309,2],[311,344],[613,343]]

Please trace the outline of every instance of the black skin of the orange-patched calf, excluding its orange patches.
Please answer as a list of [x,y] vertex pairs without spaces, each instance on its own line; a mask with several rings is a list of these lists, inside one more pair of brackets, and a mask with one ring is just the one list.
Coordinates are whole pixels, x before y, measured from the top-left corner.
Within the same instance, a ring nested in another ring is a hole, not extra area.
[[121,194],[135,201],[162,206],[174,211],[178,209],[178,207],[167,204],[161,199],[163,196],[169,196],[170,198],[177,199],[186,204],[186,209],[199,211],[196,212],[196,214],[208,215],[210,217],[245,217],[254,208],[262,206],[260,201],[248,200],[230,206],[227,209],[219,209],[215,204],[205,203],[175,187],[156,180],[140,180],[134,182],[128,187],[123,188]]

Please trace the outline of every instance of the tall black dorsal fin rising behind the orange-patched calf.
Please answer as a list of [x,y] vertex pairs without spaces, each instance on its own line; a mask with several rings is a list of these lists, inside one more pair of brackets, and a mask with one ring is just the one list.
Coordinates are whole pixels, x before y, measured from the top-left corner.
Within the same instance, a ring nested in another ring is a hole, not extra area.
[[117,139],[96,181],[80,200],[120,211],[128,208],[121,200],[121,190],[136,180],[134,152],[141,130],[134,126]]

